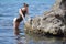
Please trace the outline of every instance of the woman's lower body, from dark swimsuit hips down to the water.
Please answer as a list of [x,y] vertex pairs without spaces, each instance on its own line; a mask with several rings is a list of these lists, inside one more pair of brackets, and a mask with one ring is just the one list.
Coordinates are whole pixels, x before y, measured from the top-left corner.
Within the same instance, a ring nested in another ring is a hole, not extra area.
[[15,34],[15,35],[20,35],[19,25],[20,25],[20,22],[21,22],[22,20],[23,20],[22,16],[20,16],[20,18],[15,18],[14,21],[13,21],[14,34]]

